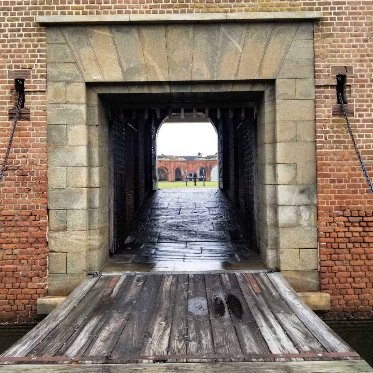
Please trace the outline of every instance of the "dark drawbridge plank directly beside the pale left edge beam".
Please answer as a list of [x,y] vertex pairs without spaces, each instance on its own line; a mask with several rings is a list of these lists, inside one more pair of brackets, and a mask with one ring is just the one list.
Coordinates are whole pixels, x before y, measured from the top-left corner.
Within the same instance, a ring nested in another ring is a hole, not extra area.
[[29,355],[54,356],[56,352],[68,341],[92,309],[100,302],[101,296],[110,285],[113,276],[100,276],[94,286],[88,290],[85,297],[79,302],[65,319],[54,328],[38,345],[34,345]]

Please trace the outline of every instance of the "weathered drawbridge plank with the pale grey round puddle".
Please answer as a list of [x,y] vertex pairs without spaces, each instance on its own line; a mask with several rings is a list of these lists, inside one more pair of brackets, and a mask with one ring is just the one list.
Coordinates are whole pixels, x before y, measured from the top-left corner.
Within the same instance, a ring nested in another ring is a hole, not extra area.
[[[188,354],[200,355],[214,352],[203,275],[189,275],[187,351]],[[199,360],[188,361],[198,362]]]

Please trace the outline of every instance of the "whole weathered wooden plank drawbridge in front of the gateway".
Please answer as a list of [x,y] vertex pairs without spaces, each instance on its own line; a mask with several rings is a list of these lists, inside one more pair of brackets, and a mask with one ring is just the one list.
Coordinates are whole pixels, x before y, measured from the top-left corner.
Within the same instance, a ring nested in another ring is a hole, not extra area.
[[1,372],[373,372],[279,272],[87,276]]

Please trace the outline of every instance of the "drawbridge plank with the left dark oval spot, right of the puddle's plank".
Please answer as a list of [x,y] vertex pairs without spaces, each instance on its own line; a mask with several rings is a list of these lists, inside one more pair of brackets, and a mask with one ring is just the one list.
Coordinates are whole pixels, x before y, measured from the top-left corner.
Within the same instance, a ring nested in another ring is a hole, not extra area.
[[205,284],[215,353],[232,354],[232,359],[222,361],[243,361],[239,357],[234,358],[241,355],[242,351],[232,325],[219,274],[206,274]]

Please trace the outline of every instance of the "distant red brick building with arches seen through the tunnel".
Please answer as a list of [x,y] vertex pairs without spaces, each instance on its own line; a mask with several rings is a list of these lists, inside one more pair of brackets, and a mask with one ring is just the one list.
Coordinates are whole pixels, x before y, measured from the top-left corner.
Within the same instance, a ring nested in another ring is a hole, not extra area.
[[[158,156],[158,181],[185,181],[185,176],[203,176],[206,181],[217,181],[217,154],[214,156]],[[212,171],[212,178],[211,178]]]

